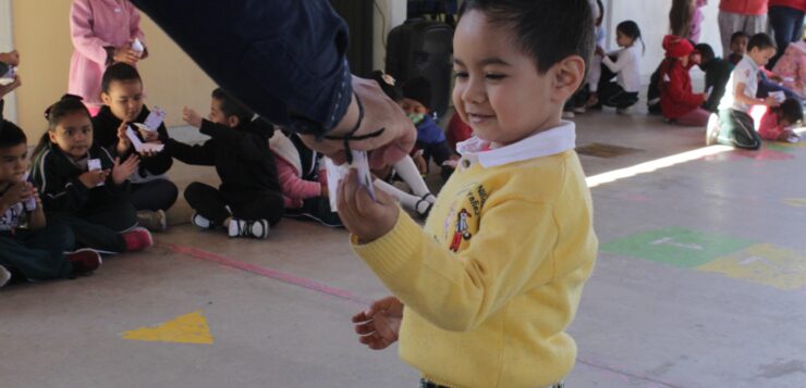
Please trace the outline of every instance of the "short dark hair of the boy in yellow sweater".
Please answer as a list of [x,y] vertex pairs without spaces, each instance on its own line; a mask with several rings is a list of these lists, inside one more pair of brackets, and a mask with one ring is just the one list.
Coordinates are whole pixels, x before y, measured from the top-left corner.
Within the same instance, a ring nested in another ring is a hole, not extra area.
[[512,28],[521,50],[545,74],[551,66],[579,55],[588,68],[594,54],[594,14],[587,0],[465,0],[460,17],[483,12],[489,23]]

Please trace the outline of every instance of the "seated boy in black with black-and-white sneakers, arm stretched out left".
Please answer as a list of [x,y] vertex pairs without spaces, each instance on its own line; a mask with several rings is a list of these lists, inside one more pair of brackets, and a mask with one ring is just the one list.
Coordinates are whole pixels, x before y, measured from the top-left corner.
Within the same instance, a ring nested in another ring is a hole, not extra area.
[[218,189],[198,182],[185,189],[185,200],[197,212],[194,225],[224,227],[230,237],[266,238],[282,217],[283,196],[269,150],[273,127],[253,116],[219,88],[212,91],[209,120],[192,109],[183,112],[187,124],[211,139],[200,146],[166,141],[167,154],[187,164],[216,166],[221,178]]

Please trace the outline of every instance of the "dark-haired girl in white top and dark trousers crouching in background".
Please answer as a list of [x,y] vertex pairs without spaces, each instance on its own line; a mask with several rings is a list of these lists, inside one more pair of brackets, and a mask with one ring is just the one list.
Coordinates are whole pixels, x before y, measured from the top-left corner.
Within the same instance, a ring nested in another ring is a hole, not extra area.
[[[640,89],[640,57],[646,49],[640,37],[640,28],[633,21],[619,23],[615,27],[615,42],[621,50],[615,52],[615,62],[601,47],[596,54],[601,57],[602,74],[599,80],[598,99],[607,107],[615,107],[618,113],[627,113],[630,107],[638,102]],[[636,41],[640,40],[643,50]],[[615,82],[612,78],[615,77]]]

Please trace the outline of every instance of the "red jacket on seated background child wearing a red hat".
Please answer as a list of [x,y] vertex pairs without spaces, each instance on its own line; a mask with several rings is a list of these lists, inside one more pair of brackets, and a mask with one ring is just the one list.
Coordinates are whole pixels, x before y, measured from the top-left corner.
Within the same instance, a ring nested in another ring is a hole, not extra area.
[[692,91],[692,76],[680,61],[672,59],[664,61],[661,68],[665,68],[670,63],[671,68],[667,72],[661,71],[660,109],[663,117],[677,118],[703,105],[705,96]]

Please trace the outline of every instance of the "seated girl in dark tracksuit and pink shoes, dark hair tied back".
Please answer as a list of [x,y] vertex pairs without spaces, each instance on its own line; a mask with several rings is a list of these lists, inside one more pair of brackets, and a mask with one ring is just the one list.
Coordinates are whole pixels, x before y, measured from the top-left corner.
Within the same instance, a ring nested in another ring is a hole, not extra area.
[[45,117],[48,130],[34,150],[32,177],[48,220],[70,226],[80,247],[101,253],[151,247],[151,234],[137,226],[129,201],[137,155],[112,158],[94,143],[89,112],[77,96],[64,96]]

